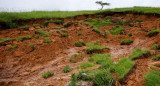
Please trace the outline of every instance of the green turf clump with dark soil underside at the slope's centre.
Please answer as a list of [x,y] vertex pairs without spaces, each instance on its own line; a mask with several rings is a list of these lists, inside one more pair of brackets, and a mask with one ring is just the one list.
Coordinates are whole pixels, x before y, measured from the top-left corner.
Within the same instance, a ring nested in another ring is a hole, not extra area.
[[100,46],[96,42],[87,43],[87,53],[101,53],[104,49],[109,49],[109,47]]

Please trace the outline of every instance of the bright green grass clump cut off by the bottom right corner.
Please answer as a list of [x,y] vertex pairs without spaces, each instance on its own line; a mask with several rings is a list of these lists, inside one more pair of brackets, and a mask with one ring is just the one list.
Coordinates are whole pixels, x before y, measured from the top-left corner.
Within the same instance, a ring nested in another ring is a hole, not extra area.
[[145,76],[147,86],[160,86],[160,71],[151,71]]

